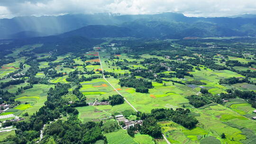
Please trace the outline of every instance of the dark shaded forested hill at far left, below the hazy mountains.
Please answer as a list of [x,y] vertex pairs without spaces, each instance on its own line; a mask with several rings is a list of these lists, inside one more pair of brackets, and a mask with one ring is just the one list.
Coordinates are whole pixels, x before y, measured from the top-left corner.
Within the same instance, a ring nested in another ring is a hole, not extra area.
[[6,54],[11,53],[14,47],[23,45],[43,44],[32,50],[35,53],[48,53],[58,51],[57,55],[66,54],[69,52],[80,52],[82,49],[90,50],[94,45],[99,45],[103,42],[101,39],[92,39],[83,36],[45,36],[16,39],[7,44],[0,45],[0,58],[4,58]]

